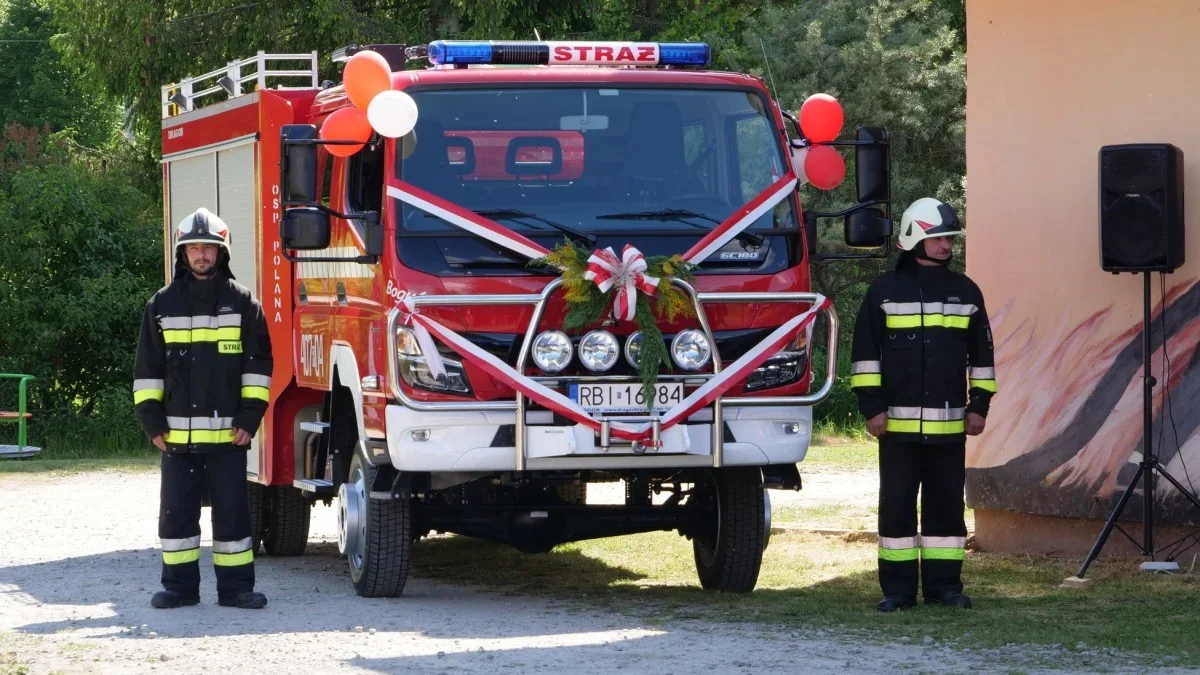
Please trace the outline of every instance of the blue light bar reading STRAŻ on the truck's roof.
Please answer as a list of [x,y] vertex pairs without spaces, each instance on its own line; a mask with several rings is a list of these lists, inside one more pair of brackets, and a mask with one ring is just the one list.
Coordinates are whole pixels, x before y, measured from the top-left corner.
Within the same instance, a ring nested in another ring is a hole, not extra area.
[[428,56],[438,66],[703,66],[710,54],[703,42],[438,40]]

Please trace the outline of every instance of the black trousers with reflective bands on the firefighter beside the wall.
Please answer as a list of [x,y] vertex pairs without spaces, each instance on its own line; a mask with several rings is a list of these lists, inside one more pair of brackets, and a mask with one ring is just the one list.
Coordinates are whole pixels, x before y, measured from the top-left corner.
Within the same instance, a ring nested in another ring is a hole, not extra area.
[[[923,444],[880,438],[880,586],[884,596],[962,592],[966,441]],[[920,491],[920,538],[917,492]]]

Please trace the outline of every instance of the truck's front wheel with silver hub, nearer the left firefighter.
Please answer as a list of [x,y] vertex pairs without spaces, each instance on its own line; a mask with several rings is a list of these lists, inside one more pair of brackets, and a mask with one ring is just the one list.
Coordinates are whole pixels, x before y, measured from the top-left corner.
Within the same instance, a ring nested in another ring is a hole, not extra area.
[[404,592],[413,554],[413,507],[408,500],[372,500],[378,470],[358,454],[338,490],[337,549],[350,567],[354,590],[367,598]]

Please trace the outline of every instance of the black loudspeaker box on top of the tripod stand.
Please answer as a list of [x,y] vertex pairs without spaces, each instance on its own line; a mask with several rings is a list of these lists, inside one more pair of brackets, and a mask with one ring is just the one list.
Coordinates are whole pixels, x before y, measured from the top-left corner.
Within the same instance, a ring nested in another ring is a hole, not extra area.
[[1100,268],[1183,264],[1183,151],[1170,143],[1100,148]]

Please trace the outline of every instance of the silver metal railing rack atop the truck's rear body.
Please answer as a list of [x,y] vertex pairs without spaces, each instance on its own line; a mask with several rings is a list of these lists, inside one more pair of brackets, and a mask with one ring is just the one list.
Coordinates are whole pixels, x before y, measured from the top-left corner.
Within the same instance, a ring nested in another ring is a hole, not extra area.
[[[293,70],[271,70],[271,61],[306,61],[305,67]],[[253,66],[253,70],[247,68]],[[268,89],[268,78],[307,78],[302,86],[283,86],[276,84],[275,89],[318,89],[317,82],[317,52],[308,54],[258,54],[240,61],[229,61],[224,67],[206,72],[197,77],[186,77],[181,82],[172,83],[162,88],[162,119],[172,118],[198,107],[197,101],[214,94],[224,92],[226,98],[234,98],[242,95],[242,85],[254,83],[253,90]],[[211,82],[210,82],[211,80]]]

